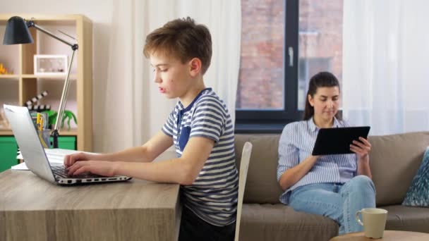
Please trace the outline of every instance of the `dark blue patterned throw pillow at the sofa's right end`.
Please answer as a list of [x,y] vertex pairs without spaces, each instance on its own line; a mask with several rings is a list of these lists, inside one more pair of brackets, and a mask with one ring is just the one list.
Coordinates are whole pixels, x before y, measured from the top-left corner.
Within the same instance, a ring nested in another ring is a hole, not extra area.
[[402,205],[429,206],[429,147],[426,148],[423,161],[413,178]]

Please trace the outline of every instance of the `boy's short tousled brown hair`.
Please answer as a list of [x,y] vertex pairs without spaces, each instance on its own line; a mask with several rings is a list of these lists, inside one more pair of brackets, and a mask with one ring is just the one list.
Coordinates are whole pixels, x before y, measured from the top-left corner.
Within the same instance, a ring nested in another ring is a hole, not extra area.
[[174,56],[182,63],[200,58],[204,75],[212,59],[210,31],[190,17],[172,20],[147,35],[143,54],[149,58],[155,53]]

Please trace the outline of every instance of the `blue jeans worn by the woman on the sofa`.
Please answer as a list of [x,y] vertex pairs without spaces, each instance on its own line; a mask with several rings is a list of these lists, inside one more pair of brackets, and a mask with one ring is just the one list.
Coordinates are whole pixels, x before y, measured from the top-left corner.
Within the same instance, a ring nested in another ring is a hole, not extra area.
[[339,235],[361,232],[356,211],[375,207],[374,183],[366,175],[358,175],[347,183],[316,183],[296,188],[289,198],[295,211],[319,214],[339,224]]

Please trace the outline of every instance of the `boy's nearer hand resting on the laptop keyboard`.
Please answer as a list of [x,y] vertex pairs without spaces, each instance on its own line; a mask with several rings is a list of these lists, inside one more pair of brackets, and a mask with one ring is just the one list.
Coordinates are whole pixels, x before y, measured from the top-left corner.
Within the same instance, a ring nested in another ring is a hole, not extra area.
[[68,175],[79,175],[81,173],[94,173],[97,175],[113,176],[119,163],[114,161],[78,161],[68,167]]

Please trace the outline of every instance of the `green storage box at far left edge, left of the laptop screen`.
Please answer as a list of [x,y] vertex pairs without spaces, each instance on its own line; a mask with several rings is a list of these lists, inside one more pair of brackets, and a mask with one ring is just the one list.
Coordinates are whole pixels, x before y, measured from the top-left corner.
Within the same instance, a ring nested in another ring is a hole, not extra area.
[[16,144],[15,137],[0,137],[0,172],[18,164],[17,152],[18,144]]

